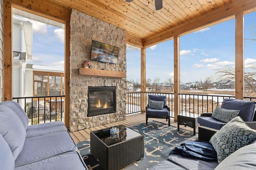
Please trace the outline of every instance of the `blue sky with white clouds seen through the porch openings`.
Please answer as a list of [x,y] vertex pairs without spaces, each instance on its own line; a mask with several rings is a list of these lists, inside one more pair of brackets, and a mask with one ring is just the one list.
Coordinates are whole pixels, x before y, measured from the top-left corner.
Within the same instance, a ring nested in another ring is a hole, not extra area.
[[[26,19],[28,20],[28,19]],[[33,23],[32,60],[28,63],[64,67],[64,29]],[[256,39],[256,12],[244,16],[244,38]],[[256,64],[256,41],[244,41],[244,64]],[[140,81],[140,51],[127,48],[127,80]],[[180,80],[205,80],[217,69],[235,64],[235,20],[180,37]],[[146,49],[146,79],[165,82],[174,75],[173,40]]]

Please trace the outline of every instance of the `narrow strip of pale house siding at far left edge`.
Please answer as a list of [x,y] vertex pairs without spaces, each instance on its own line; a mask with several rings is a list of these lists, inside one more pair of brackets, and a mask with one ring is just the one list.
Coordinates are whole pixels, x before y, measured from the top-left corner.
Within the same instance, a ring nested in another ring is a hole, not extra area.
[[0,102],[4,101],[3,80],[3,0],[0,0]]

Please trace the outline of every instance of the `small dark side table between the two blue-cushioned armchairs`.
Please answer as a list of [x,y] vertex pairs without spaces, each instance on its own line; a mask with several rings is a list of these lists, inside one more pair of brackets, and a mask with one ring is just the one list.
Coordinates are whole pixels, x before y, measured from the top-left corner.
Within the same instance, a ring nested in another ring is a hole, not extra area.
[[196,135],[196,127],[199,126],[197,123],[197,117],[188,117],[183,115],[178,115],[178,131],[180,130],[180,125],[185,125],[194,129],[194,135]]

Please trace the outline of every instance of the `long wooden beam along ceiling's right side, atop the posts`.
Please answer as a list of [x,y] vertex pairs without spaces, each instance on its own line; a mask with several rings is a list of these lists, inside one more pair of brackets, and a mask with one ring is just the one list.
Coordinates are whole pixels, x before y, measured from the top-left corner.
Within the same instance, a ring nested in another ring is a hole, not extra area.
[[144,39],[144,47],[150,47],[163,41],[167,41],[169,39],[172,39],[172,37],[176,35],[185,34],[188,31],[210,25],[214,22],[221,21],[225,18],[229,18],[241,12],[252,10],[253,8],[256,8],[255,0],[246,0],[246,3],[244,3],[244,0],[237,0],[232,4],[214,10],[208,14],[205,14],[204,16],[198,17],[187,23],[164,31],[158,35]]

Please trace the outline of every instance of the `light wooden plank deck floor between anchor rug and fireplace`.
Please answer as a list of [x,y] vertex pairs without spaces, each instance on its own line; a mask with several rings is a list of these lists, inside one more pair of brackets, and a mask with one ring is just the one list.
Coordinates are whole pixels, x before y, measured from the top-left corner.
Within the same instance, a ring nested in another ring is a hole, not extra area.
[[[168,124],[168,121],[166,121],[166,119],[149,118],[148,120],[155,120],[155,121],[158,121],[158,122],[161,122],[161,123]],[[116,125],[124,125],[126,127],[132,127],[132,126],[138,125],[140,123],[146,123],[146,115],[143,114],[143,113],[127,115],[126,120],[117,121],[117,122],[114,122],[114,123],[108,123],[108,124],[100,125],[100,126],[97,126],[97,127],[91,127],[90,129],[83,129],[83,130],[80,130],[80,131],[75,131],[75,132],[70,133],[70,135],[74,139],[75,143],[78,143],[78,142],[90,139],[90,131],[95,131],[95,130],[99,130],[99,129],[113,127],[113,126],[116,126]],[[174,127],[177,127],[177,122],[175,122],[174,119],[171,118],[170,125],[174,126]],[[186,129],[188,131],[193,131],[192,128],[184,127],[182,125],[180,126],[180,128]],[[196,132],[198,132],[198,130],[196,130]]]

